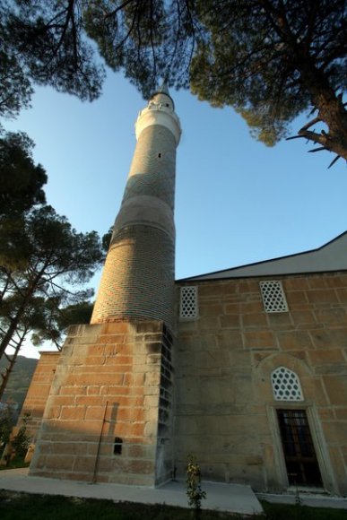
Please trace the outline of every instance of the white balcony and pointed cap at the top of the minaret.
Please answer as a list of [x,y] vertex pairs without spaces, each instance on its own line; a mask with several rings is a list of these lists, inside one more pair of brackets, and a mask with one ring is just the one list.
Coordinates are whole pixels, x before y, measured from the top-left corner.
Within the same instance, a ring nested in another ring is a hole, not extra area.
[[169,89],[165,82],[162,83],[159,91],[152,95],[148,106],[143,108],[135,123],[136,139],[140,137],[144,128],[151,125],[161,125],[169,129],[174,135],[176,145],[181,136],[181,126],[179,118],[175,113],[175,105],[169,95]]

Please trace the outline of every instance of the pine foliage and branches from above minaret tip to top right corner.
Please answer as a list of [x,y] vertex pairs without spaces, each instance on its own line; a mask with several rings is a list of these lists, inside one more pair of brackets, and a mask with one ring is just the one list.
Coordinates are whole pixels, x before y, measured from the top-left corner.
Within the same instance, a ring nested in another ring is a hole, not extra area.
[[[145,96],[158,77],[230,106],[273,145],[301,113],[299,135],[347,159],[345,0],[89,2],[86,30],[113,70]],[[310,129],[324,123],[325,129]]]

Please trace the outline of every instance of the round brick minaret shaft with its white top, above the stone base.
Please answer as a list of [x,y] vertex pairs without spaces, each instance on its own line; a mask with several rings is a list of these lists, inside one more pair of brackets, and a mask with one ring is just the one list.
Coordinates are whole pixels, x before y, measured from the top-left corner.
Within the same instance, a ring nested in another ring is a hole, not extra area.
[[162,320],[172,330],[176,148],[181,133],[165,85],[135,124],[136,147],[91,324]]

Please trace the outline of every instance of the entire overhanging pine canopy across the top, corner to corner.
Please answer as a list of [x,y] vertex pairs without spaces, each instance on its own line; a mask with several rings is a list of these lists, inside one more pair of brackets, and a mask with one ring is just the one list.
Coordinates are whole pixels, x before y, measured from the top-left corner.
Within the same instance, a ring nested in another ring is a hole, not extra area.
[[97,97],[89,37],[144,97],[165,78],[235,108],[268,145],[317,110],[299,136],[347,159],[346,11],[347,0],[0,0],[0,114],[28,104],[33,82]]

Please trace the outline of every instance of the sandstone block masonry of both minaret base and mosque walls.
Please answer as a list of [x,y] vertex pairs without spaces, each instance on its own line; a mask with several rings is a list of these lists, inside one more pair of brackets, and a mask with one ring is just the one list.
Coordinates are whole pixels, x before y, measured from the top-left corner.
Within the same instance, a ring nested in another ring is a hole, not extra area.
[[[39,418],[48,394],[40,390],[54,374],[31,472],[91,480],[108,403],[98,481],[153,485],[175,466],[184,477],[194,454],[204,479],[283,491],[276,410],[298,409],[308,415],[324,489],[346,495],[347,273],[271,279],[282,281],[288,312],[265,313],[265,277],[186,282],[197,286],[198,316],[178,319],[175,351],[161,322],[73,328],[55,374],[58,355],[39,361],[24,403]],[[271,374],[281,366],[299,377],[304,401],[274,400]]]

